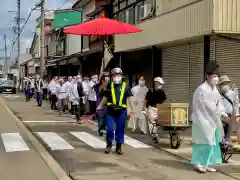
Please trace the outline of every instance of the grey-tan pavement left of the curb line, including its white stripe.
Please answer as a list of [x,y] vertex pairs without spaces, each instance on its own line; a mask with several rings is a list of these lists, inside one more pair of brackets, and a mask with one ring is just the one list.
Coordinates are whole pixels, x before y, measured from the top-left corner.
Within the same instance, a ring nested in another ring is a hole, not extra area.
[[[57,180],[36,150],[32,139],[19,127],[0,97],[0,176],[1,180]],[[36,143],[36,142],[35,142]]]

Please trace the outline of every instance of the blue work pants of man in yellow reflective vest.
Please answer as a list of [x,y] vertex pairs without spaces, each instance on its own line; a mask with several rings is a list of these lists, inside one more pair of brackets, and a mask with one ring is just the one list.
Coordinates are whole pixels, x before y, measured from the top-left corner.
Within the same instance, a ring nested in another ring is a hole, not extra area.
[[[114,135],[115,141],[120,144],[124,144],[125,123],[127,118],[127,110],[122,110],[121,113],[114,114],[106,113],[106,125],[107,125],[107,144],[112,145]],[[116,123],[116,126],[115,126]],[[114,128],[116,127],[116,129]],[[115,129],[115,134],[114,134]]]

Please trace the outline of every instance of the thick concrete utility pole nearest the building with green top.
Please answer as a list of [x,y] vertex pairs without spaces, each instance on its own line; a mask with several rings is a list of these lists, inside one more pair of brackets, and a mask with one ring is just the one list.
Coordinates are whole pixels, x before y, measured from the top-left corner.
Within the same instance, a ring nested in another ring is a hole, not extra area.
[[44,11],[45,0],[41,0],[41,34],[40,34],[40,47],[41,47],[41,54],[40,54],[40,77],[43,78],[44,70],[45,70],[45,58],[44,58],[44,50],[45,50],[45,43],[44,43],[44,19],[45,19],[45,11]]

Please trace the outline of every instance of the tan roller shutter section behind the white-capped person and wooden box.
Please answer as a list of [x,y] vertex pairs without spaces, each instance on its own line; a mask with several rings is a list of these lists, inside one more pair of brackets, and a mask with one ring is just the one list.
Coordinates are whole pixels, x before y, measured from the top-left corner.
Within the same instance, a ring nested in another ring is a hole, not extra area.
[[167,102],[188,102],[188,45],[163,49],[163,80]]

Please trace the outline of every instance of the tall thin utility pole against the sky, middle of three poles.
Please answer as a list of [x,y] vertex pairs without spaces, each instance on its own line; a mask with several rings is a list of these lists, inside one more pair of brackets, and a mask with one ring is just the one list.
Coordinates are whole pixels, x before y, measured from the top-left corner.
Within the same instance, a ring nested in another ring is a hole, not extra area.
[[19,90],[20,90],[20,78],[21,78],[21,70],[20,70],[20,36],[21,36],[21,0],[17,0],[17,37],[18,37],[18,47],[17,47],[17,68],[18,68],[18,83]]

